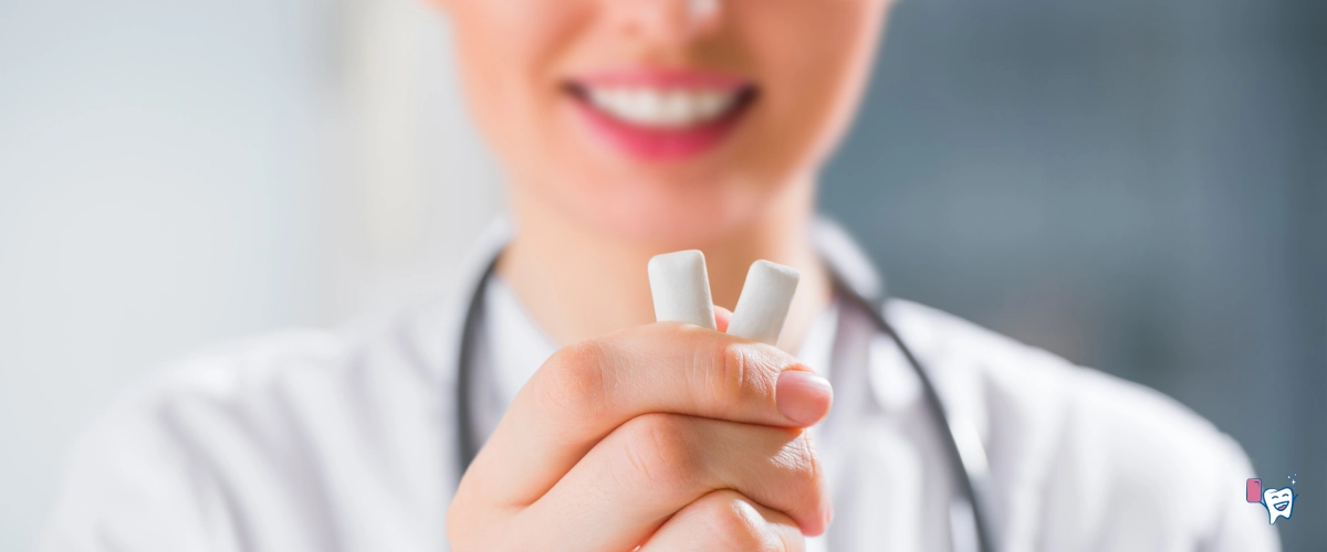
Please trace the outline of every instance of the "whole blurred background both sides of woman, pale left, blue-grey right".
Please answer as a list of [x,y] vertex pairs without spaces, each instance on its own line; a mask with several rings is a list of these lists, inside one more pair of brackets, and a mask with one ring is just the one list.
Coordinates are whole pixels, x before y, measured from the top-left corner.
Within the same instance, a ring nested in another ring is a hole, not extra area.
[[[884,49],[821,203],[892,293],[1178,398],[1320,549],[1327,4],[905,0]],[[0,1],[0,549],[170,359],[449,289],[500,208],[451,64],[418,0]]]

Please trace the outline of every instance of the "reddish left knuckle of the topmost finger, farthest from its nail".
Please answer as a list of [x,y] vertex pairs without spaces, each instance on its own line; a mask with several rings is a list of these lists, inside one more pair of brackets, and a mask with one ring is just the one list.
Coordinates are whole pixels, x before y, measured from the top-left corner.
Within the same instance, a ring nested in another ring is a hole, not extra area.
[[612,387],[606,356],[604,345],[594,339],[557,349],[540,368],[540,397],[571,417],[596,416],[605,408],[606,391]]

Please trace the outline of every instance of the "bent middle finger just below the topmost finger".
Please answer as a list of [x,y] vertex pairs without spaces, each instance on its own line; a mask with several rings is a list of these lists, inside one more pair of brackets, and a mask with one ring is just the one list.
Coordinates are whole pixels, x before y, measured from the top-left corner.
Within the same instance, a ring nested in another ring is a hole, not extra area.
[[800,429],[678,414],[624,424],[522,516],[544,544],[630,549],[678,510],[721,488],[783,512],[819,535],[831,504],[819,459]]

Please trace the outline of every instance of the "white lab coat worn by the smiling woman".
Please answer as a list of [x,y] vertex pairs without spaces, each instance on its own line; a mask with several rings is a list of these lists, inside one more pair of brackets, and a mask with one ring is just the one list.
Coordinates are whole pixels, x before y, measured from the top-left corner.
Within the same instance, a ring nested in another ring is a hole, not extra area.
[[[471,274],[498,242],[479,248]],[[446,549],[471,286],[391,323],[285,331],[180,363],[81,439],[42,549]],[[502,404],[551,345],[522,345],[540,334],[500,285],[484,303],[479,364]],[[1245,502],[1255,475],[1239,446],[1176,401],[920,304],[892,299],[886,312],[977,425],[1002,549],[1279,548],[1263,510]],[[865,345],[831,351],[845,342],[825,335]],[[836,389],[815,430],[836,518],[813,547],[950,549],[959,487],[947,436],[898,349],[836,308],[802,356],[831,365]]]

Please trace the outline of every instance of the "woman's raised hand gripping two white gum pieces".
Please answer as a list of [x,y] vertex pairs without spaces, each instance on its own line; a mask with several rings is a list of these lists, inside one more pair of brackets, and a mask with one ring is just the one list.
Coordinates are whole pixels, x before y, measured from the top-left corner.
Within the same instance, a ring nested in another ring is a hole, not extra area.
[[[715,308],[721,331],[731,316]],[[832,515],[803,428],[829,384],[770,345],[654,323],[557,351],[447,512],[456,551],[803,549]]]

